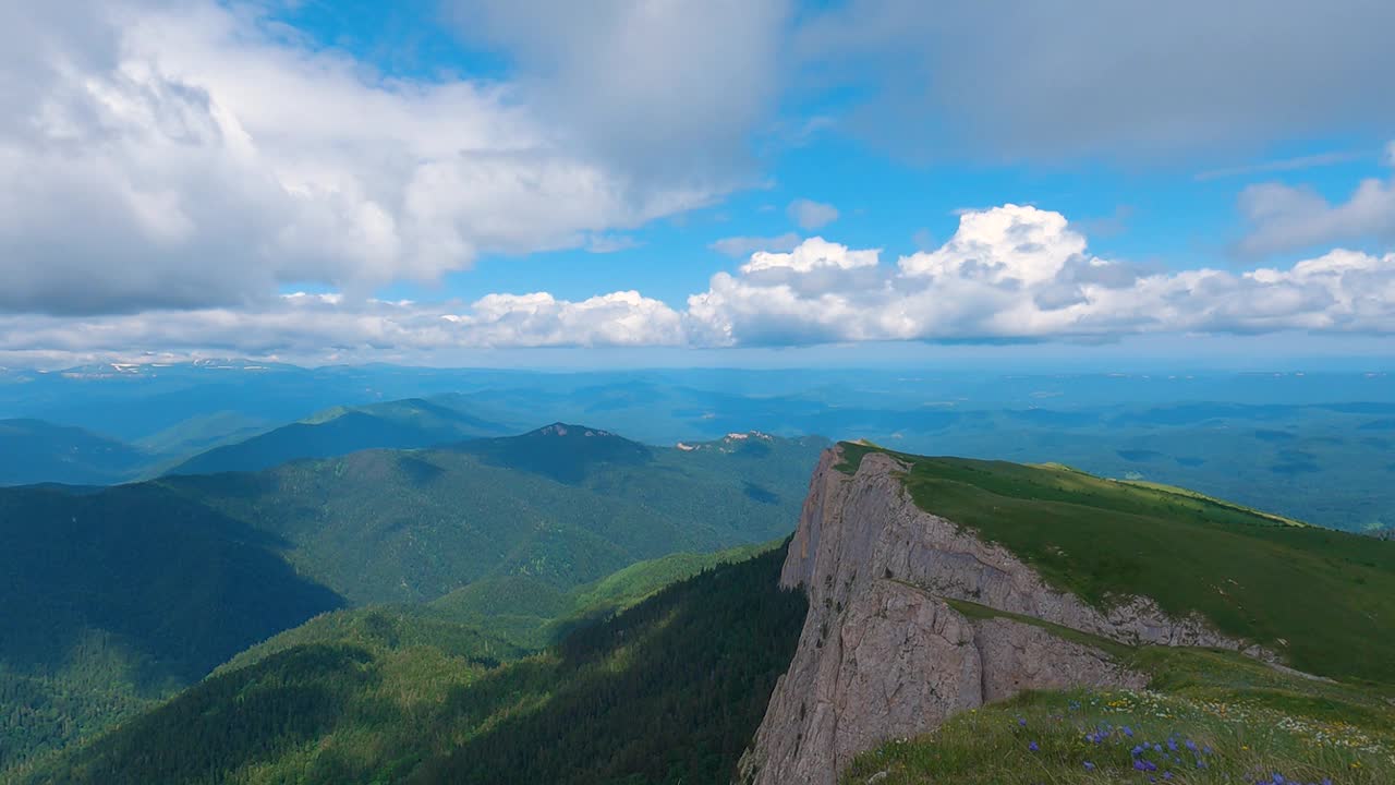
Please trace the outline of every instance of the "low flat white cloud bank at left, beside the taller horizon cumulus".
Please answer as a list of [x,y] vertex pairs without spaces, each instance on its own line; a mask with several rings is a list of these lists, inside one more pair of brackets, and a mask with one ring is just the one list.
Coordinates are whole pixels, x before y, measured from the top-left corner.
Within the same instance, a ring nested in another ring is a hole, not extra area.
[[[638,346],[685,342],[682,317],[636,292],[580,302],[545,292],[463,303],[352,300],[293,293],[254,307],[63,317],[0,316],[0,353],[71,358],[141,352],[220,356],[424,359],[460,349]],[[61,362],[61,360],[59,360]]]

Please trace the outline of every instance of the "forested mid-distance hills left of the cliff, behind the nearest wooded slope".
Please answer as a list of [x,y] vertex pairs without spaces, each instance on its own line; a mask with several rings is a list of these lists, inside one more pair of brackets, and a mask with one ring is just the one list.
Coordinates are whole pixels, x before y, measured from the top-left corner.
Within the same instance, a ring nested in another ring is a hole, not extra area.
[[[566,629],[544,626],[587,610],[569,599],[578,587],[787,535],[823,444],[769,440],[751,454],[611,439],[644,460],[534,434],[519,439],[529,450],[492,440],[483,457],[469,444],[378,450],[82,493],[0,490],[0,771],[342,605],[456,592],[442,599],[459,606],[449,619],[485,624],[480,643],[498,644],[480,659],[544,645]],[[543,454],[576,474],[540,471]],[[596,591],[593,616],[614,599]]]

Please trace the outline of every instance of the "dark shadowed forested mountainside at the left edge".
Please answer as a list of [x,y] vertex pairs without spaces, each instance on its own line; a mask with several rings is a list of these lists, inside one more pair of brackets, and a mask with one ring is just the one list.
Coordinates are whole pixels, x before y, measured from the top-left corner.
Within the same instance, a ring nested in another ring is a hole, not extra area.
[[155,486],[0,492],[0,771],[343,601]]

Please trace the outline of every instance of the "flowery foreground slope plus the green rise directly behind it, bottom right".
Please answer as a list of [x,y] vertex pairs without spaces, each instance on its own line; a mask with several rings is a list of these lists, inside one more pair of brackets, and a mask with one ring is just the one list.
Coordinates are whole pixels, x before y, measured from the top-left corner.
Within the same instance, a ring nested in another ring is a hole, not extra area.
[[1152,648],[1133,661],[1152,673],[1147,691],[1027,693],[861,754],[844,782],[1395,782],[1388,694],[1233,654]]

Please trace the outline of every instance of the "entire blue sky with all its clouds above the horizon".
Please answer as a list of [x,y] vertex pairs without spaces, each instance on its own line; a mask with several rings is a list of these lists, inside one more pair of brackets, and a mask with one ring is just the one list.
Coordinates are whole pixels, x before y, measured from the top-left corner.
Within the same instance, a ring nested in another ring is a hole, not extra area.
[[1391,358],[1391,29],[0,0],[0,366]]

